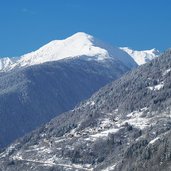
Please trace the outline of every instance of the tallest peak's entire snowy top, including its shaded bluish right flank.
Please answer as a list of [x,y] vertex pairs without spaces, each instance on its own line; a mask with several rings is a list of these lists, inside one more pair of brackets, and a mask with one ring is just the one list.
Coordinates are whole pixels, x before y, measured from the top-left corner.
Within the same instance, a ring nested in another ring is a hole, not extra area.
[[91,35],[78,32],[64,40],[54,40],[34,52],[25,54],[10,65],[7,65],[7,61],[0,71],[80,56],[87,56],[87,60],[96,61],[113,58],[122,61],[129,68],[136,66],[134,60],[119,48],[109,47]]

